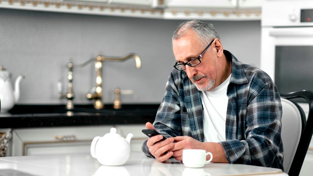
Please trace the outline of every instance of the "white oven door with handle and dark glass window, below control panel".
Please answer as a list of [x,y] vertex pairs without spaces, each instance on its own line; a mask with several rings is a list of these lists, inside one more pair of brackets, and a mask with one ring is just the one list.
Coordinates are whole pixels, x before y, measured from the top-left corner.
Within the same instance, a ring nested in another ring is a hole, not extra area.
[[261,69],[280,93],[313,91],[313,27],[262,27]]

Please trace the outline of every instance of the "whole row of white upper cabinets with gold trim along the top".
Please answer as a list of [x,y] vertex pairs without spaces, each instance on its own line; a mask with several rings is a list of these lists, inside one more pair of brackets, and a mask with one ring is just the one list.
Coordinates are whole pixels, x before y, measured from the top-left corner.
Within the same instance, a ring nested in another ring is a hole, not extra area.
[[157,19],[261,20],[263,0],[0,0],[0,8]]

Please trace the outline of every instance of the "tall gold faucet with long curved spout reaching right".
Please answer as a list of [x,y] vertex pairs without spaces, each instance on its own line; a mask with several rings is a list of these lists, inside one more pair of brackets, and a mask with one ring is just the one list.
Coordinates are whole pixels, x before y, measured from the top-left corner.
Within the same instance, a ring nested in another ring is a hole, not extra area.
[[90,59],[86,63],[82,64],[82,66],[89,64],[90,61],[95,61],[95,70],[97,72],[96,77],[96,87],[92,88],[91,92],[87,94],[87,98],[89,100],[94,100],[94,108],[99,110],[104,108],[102,102],[102,62],[103,61],[125,61],[127,59],[134,58],[136,63],[136,68],[141,67],[141,61],[137,54],[131,53],[127,56],[117,58],[117,57],[105,57],[105,56],[97,56],[96,58]]

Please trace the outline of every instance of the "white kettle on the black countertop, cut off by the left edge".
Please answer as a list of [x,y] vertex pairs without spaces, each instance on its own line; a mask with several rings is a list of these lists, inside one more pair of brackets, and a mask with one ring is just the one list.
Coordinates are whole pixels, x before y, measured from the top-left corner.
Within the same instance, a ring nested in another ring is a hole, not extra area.
[[15,80],[15,88],[13,89],[11,83],[11,73],[0,66],[0,100],[1,113],[11,110],[20,99],[20,81],[24,78],[19,75]]

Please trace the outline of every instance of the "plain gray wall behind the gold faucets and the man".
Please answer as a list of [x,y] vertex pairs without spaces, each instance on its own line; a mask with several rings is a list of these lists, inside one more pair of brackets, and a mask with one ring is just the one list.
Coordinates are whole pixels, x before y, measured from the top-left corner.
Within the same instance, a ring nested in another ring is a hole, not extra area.
[[[160,103],[175,61],[171,36],[179,22],[0,8],[0,65],[12,72],[12,82],[25,75],[18,104],[65,104],[58,98],[57,82],[65,91],[70,58],[82,64],[99,53],[120,57],[135,52],[141,69],[134,59],[104,62],[104,102],[112,103],[119,87],[135,93],[122,95],[122,103]],[[212,23],[224,49],[260,66],[260,21]],[[96,84],[95,73],[93,63],[74,69],[75,104],[91,103],[86,94]]]

